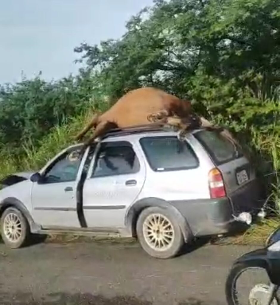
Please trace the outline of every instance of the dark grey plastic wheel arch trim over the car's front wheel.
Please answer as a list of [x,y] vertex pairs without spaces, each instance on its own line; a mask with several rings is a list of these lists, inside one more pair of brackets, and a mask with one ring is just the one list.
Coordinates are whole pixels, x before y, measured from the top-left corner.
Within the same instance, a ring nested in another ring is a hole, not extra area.
[[37,233],[39,231],[39,226],[34,222],[31,214],[29,213],[29,211],[27,210],[27,208],[24,206],[24,204],[14,198],[14,197],[8,197],[5,198],[4,200],[2,200],[0,202],[0,217],[2,217],[2,214],[4,213],[4,211],[6,209],[8,209],[9,207],[15,207],[17,208],[22,214],[23,216],[27,219],[27,222],[29,224],[30,230],[32,233]]

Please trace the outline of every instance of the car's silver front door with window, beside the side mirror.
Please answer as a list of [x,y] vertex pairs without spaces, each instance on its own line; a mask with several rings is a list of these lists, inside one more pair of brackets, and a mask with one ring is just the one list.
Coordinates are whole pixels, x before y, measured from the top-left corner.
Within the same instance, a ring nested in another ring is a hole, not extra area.
[[34,221],[43,228],[80,227],[77,217],[76,189],[81,156],[73,157],[71,148],[63,152],[34,182],[31,191]]

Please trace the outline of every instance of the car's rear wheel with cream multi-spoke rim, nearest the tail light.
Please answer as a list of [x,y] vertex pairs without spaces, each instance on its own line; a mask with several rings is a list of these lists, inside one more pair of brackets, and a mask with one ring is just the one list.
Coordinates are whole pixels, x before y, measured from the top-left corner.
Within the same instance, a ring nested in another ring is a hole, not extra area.
[[142,248],[156,258],[176,256],[184,243],[174,214],[157,206],[146,208],[140,213],[136,232]]

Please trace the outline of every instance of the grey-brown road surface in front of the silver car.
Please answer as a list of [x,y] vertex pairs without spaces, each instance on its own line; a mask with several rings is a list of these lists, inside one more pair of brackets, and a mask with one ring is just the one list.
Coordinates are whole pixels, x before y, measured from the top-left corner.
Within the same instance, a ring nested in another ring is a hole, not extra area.
[[253,248],[203,246],[156,260],[138,244],[0,244],[0,304],[224,305],[232,261]]

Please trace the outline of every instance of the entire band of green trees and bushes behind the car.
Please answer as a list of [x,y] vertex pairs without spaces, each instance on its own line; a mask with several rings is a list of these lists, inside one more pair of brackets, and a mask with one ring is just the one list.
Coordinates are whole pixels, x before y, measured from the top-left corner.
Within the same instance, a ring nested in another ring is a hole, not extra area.
[[84,63],[77,77],[3,85],[0,149],[36,145],[88,104],[103,110],[104,97],[115,102],[142,86],[189,98],[247,136],[279,136],[279,0],[155,0],[126,27],[118,40],[74,49]]

